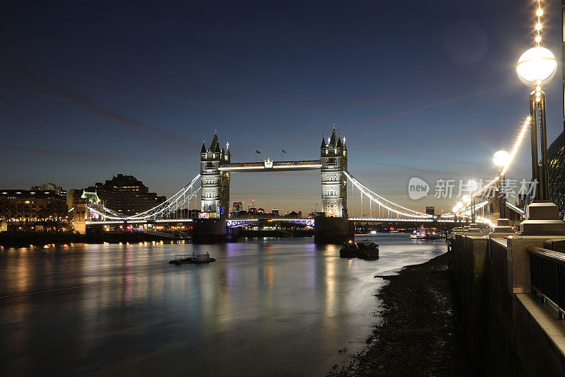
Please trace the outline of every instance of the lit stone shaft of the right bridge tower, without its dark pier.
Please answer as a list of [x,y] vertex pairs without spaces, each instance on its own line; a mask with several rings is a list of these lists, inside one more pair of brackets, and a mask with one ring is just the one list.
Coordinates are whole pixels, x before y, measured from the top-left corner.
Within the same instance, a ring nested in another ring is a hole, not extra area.
[[335,127],[328,144],[322,137],[320,146],[322,206],[326,217],[347,217],[347,147],[341,134],[335,136]]

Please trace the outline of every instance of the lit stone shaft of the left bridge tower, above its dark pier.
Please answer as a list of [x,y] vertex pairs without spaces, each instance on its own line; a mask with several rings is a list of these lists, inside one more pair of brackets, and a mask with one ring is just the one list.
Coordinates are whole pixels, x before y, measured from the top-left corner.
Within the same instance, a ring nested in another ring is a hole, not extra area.
[[230,212],[230,173],[222,172],[222,163],[230,163],[229,144],[227,151],[220,148],[218,132],[214,133],[210,148],[202,142],[200,151],[201,217],[224,219]]

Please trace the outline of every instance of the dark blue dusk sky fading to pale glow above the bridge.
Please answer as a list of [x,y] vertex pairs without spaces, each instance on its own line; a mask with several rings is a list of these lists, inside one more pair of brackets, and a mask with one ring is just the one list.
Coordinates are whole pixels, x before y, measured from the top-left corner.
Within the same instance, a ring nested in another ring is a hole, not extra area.
[[[13,2],[0,23],[6,188],[125,173],[169,196],[198,173],[215,128],[232,161],[282,148],[309,159],[335,122],[359,180],[414,209],[448,209],[408,199],[408,180],[489,178],[528,112],[515,64],[533,46],[533,1],[33,3]],[[559,3],[545,11],[544,45],[559,57]],[[551,142],[559,74],[545,90]],[[529,167],[525,144],[511,175]],[[232,175],[232,200],[307,211],[319,180]]]

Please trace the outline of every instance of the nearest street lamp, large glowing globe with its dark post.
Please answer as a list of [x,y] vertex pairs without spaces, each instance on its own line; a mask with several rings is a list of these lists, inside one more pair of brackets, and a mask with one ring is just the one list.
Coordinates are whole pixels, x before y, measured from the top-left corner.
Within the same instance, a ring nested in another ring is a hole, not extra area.
[[[541,23],[538,23],[540,25]],[[539,29],[537,29],[539,31]],[[532,175],[537,182],[536,199],[548,200],[547,189],[547,130],[545,125],[545,93],[542,86],[553,79],[557,71],[557,61],[554,54],[545,47],[540,47],[541,39],[536,39],[537,47],[530,48],[524,52],[518,65],[516,73],[520,80],[530,88],[535,88],[530,93],[530,135],[532,146]],[[541,164],[537,157],[537,112],[540,120],[540,142],[541,142]]]

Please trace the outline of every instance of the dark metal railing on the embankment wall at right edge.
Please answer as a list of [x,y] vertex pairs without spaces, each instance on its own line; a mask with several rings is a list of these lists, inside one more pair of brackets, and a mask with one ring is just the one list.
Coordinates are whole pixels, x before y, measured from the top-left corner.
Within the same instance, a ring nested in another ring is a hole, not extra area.
[[565,319],[565,254],[544,248],[528,248],[532,290],[557,308]]

